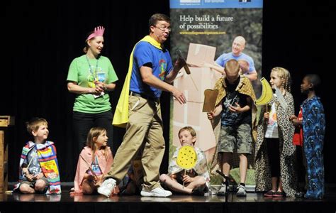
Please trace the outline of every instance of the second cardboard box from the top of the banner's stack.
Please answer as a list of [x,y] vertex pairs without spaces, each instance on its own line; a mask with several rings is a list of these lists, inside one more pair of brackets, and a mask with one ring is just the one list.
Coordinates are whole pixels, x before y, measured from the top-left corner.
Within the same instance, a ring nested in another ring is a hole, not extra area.
[[187,75],[184,68],[180,70],[177,79],[174,80],[174,87],[177,87],[186,96],[188,102],[204,102],[204,90],[213,89],[215,82],[222,76],[220,72],[208,67],[190,67],[190,75]]

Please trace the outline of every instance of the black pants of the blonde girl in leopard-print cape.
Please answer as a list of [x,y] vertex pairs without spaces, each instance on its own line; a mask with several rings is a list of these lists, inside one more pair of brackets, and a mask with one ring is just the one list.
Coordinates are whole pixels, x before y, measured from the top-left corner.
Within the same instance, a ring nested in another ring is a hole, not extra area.
[[271,177],[280,177],[280,153],[279,138],[265,138],[267,154],[269,155],[269,166],[271,167]]

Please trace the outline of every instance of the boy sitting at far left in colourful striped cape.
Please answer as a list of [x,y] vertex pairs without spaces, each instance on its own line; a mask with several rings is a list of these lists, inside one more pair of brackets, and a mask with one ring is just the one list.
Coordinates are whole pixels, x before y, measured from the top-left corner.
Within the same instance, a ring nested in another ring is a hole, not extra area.
[[33,118],[26,123],[27,131],[34,137],[23,146],[20,160],[19,182],[14,191],[24,194],[46,193],[60,194],[60,173],[58,169],[56,148],[47,141],[49,130],[47,121]]

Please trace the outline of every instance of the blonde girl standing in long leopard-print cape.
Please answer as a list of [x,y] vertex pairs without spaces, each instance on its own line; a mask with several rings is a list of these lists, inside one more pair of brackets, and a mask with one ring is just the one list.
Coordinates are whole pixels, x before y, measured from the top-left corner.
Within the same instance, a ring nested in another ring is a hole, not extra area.
[[271,70],[271,102],[262,106],[257,123],[255,148],[256,191],[267,197],[293,197],[296,193],[296,148],[292,138],[294,126],[289,120],[294,113],[289,71],[282,67]]

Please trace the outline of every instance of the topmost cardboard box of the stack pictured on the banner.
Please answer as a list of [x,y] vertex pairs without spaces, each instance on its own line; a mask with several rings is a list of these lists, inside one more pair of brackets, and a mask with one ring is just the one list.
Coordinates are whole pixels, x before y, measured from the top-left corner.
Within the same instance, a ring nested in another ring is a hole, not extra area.
[[186,63],[201,67],[203,62],[213,63],[215,58],[215,47],[190,43]]

